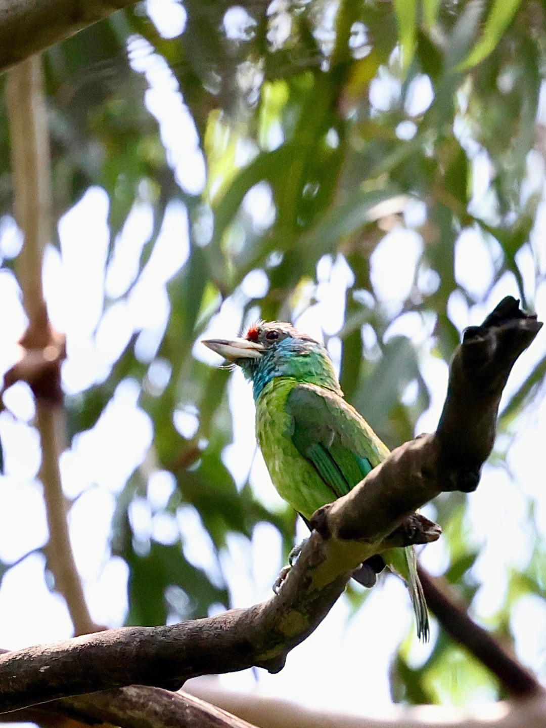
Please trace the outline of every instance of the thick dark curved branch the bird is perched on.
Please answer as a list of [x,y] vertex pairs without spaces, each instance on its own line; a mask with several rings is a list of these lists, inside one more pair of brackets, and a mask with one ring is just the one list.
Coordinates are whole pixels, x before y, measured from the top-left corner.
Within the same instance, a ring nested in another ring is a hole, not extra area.
[[[540,326],[505,298],[482,327],[465,334],[437,432],[397,448],[350,494],[313,515],[315,529],[269,601],[204,620],[108,630],[2,655],[0,711],[129,684],[179,687],[192,676],[252,665],[281,670],[350,572],[380,553],[414,510],[441,491],[475,488],[493,443],[502,387]],[[416,540],[435,535],[426,528],[416,526]]]

